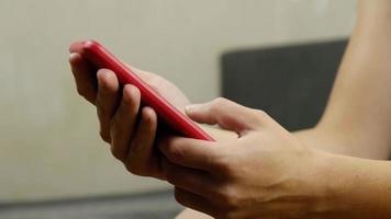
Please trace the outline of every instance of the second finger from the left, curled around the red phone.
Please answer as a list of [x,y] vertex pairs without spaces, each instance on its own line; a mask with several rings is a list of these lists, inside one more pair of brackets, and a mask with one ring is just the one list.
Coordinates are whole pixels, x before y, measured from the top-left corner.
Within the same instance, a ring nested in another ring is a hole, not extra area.
[[107,142],[111,142],[110,138],[110,120],[113,117],[120,99],[119,81],[111,70],[100,69],[97,73],[98,78],[98,94],[97,94],[97,111],[100,124],[100,135]]

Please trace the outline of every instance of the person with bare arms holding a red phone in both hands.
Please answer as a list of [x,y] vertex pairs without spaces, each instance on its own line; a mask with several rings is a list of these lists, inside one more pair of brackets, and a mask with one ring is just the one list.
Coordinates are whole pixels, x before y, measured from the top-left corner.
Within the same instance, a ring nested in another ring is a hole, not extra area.
[[[391,1],[360,0],[355,30],[320,123],[289,132],[225,99],[190,105],[161,77],[134,69],[215,142],[160,135],[139,91],[69,58],[100,135],[134,174],[166,180],[186,207],[215,218],[391,218]],[[157,151],[160,152],[157,152]],[[206,217],[186,210],[179,218]]]

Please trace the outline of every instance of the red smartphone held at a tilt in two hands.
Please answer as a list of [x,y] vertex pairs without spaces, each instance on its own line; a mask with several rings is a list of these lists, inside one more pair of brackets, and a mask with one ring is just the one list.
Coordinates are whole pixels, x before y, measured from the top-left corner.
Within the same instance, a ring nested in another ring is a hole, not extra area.
[[[74,49],[72,49],[74,48]],[[213,141],[213,138],[194,124],[189,117],[160,96],[136,73],[115,58],[108,49],[96,41],[75,43],[70,50],[77,50],[97,68],[112,70],[121,84],[133,84],[138,88],[143,105],[155,110],[159,122],[164,122],[175,132],[189,138]]]

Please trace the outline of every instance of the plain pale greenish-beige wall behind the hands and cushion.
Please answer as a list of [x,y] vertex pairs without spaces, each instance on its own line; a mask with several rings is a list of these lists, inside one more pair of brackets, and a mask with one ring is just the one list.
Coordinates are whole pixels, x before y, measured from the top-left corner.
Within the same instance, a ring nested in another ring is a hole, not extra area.
[[96,38],[193,102],[221,95],[225,51],[347,37],[355,0],[0,0],[0,203],[161,191],[129,174],[76,93],[68,45]]

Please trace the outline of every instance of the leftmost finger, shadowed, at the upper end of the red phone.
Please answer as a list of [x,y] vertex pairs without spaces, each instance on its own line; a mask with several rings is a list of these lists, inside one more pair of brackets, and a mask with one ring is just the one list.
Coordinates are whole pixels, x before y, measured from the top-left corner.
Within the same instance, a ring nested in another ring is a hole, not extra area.
[[87,101],[94,104],[97,96],[96,72],[80,54],[70,54],[69,64],[75,78],[77,92]]

